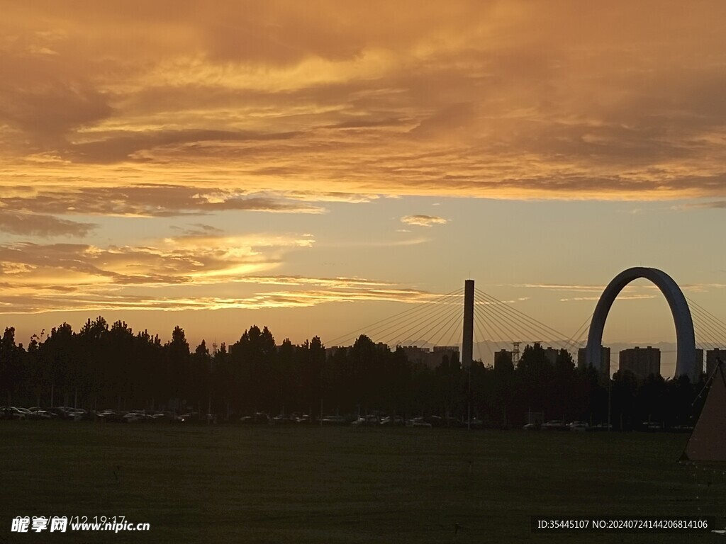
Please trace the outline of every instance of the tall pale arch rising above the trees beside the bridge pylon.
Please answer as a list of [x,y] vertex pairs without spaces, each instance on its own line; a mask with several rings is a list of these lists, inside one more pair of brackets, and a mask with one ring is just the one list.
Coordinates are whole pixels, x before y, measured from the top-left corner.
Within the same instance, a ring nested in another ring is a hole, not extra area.
[[600,295],[600,300],[595,306],[595,313],[590,322],[590,332],[587,334],[587,352],[585,360],[600,371],[603,368],[600,346],[603,345],[603,331],[605,319],[608,317],[610,308],[615,302],[619,292],[631,281],[645,278],[652,281],[666,297],[668,305],[673,314],[673,322],[676,326],[676,376],[686,374],[692,382],[701,375],[702,368],[696,364],[696,334],[693,332],[693,318],[690,316],[690,308],[686,302],[683,292],[675,281],[663,271],[657,268],[645,268],[637,266],[628,268],[619,273],[613,281],[605,287]]

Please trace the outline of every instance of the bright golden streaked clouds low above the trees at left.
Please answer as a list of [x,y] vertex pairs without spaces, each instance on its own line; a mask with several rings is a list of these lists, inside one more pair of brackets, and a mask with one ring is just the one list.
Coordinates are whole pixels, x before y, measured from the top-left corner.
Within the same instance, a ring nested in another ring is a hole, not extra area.
[[312,244],[309,236],[228,237],[205,225],[143,247],[2,244],[0,310],[294,308],[432,296],[372,279],[260,275],[277,268],[285,252]]

